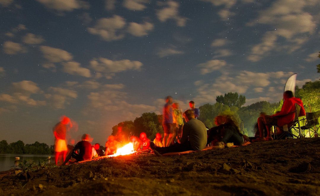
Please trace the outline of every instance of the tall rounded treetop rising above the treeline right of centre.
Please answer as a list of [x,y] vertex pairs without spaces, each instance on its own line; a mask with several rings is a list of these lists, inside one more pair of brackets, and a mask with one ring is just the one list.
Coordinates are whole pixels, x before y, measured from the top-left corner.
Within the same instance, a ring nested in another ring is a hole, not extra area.
[[245,96],[242,96],[242,95],[239,96],[237,92],[235,93],[228,92],[228,93],[225,93],[224,96],[222,95],[217,96],[216,101],[218,103],[227,105],[229,107],[236,106],[240,108],[245,104]]

